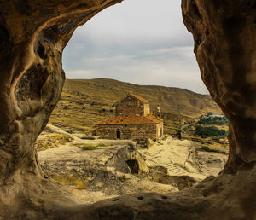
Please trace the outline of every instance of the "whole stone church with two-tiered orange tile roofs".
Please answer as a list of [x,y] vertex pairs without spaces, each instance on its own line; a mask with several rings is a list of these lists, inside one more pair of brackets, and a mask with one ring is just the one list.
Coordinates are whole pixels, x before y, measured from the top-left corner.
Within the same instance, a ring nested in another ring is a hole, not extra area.
[[149,102],[129,94],[115,103],[115,117],[96,124],[96,135],[103,139],[132,139],[145,142],[163,136],[163,122],[150,115]]

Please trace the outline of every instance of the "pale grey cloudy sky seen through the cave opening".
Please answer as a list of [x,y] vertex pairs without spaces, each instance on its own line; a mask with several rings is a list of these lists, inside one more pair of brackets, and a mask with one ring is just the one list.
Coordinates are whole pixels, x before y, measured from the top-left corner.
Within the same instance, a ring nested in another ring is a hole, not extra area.
[[114,78],[207,94],[180,0],[125,0],[80,26],[67,44],[67,78]]

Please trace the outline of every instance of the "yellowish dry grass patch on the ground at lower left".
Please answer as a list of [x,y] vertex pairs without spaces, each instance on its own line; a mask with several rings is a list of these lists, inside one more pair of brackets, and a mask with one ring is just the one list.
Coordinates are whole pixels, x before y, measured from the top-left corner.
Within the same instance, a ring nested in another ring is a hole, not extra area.
[[61,182],[64,185],[71,185],[75,188],[87,188],[88,180],[82,180],[79,177],[73,175],[58,175],[54,174],[51,176],[56,182]]

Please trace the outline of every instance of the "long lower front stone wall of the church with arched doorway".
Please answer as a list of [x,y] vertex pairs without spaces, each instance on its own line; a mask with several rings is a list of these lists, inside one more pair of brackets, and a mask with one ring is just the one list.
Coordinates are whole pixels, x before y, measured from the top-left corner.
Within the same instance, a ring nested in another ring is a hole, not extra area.
[[156,124],[116,124],[96,125],[96,135],[103,139],[117,139],[116,130],[121,132],[120,139],[147,140],[156,139]]

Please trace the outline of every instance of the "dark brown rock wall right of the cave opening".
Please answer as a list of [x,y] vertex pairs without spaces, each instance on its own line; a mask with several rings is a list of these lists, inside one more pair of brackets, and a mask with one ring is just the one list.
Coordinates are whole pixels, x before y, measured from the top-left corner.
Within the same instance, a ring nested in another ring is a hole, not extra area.
[[201,78],[230,120],[226,171],[256,161],[255,1],[184,0]]

